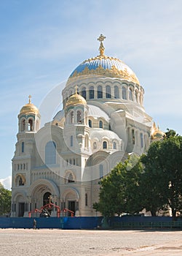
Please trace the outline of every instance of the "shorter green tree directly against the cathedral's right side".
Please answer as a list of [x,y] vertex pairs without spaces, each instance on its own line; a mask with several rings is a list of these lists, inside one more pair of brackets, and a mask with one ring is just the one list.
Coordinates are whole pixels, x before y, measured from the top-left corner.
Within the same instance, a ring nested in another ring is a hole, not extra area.
[[138,184],[143,168],[134,156],[119,162],[111,173],[100,181],[100,199],[94,208],[105,217],[141,211]]

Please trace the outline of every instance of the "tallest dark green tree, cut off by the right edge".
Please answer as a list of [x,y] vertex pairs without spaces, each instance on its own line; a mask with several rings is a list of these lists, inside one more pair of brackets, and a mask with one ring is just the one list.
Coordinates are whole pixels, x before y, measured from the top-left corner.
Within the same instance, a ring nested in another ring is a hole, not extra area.
[[140,187],[146,195],[143,206],[152,215],[170,206],[175,217],[182,209],[182,137],[168,130],[165,139],[151,143],[141,161],[144,174]]

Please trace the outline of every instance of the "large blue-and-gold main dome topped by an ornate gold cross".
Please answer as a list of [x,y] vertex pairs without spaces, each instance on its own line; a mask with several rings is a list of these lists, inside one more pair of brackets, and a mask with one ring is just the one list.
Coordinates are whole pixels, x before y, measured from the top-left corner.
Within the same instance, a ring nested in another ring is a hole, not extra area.
[[80,75],[103,75],[111,78],[122,78],[139,84],[135,73],[123,61],[104,55],[105,48],[102,41],[105,38],[102,34],[98,38],[100,41],[100,55],[83,61],[74,69],[69,78],[79,77]]

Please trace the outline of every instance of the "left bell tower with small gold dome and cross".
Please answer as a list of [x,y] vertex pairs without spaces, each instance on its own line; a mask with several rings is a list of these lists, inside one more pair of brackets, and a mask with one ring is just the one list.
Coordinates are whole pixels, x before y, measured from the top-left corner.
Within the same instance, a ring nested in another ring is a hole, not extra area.
[[31,184],[31,169],[36,165],[34,135],[40,129],[40,113],[38,108],[31,103],[31,96],[29,96],[28,103],[21,108],[17,117],[17,143],[12,158],[12,189],[15,194],[20,191],[24,191],[24,193],[18,206],[12,201],[12,217],[28,217],[26,188]]

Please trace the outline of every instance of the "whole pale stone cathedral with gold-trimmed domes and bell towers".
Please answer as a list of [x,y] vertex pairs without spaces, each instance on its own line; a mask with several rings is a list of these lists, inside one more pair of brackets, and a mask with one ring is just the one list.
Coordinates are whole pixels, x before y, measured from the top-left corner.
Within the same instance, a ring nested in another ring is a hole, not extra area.
[[51,202],[50,217],[64,209],[76,217],[94,217],[99,181],[130,154],[146,152],[163,133],[143,108],[144,89],[132,69],[105,55],[86,59],[69,76],[62,91],[63,109],[44,127],[29,102],[18,114],[12,158],[11,217]]

